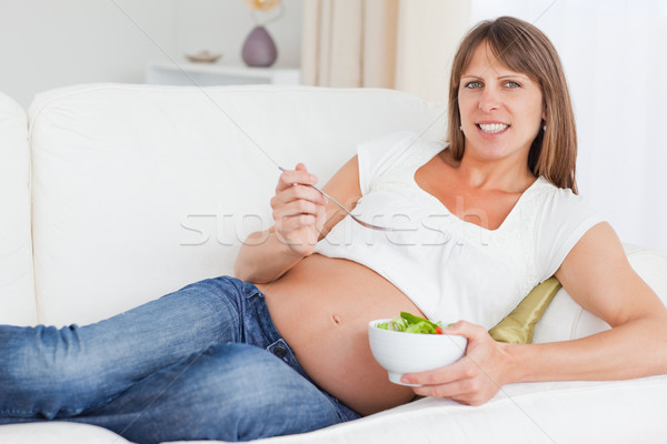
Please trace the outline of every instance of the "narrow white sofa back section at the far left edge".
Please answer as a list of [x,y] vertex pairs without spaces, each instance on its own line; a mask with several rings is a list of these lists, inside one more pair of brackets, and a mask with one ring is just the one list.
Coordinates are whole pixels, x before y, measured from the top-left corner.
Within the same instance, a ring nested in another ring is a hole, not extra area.
[[23,109],[0,92],[0,323],[36,321],[30,157]]

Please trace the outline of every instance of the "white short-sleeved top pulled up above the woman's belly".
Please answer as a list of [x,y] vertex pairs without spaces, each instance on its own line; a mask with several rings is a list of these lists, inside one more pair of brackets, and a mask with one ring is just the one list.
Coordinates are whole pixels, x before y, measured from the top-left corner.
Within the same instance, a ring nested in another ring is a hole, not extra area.
[[361,143],[362,196],[354,213],[399,231],[369,230],[346,216],[316,252],[368,266],[431,320],[466,320],[488,330],[603,219],[571,190],[540,176],[497,230],[465,222],[415,181],[419,167],[445,148],[406,132]]

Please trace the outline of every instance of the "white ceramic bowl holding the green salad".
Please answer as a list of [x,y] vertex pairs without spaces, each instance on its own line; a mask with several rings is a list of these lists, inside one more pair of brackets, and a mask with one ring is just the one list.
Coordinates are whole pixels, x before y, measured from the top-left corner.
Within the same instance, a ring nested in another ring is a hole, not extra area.
[[372,355],[395,384],[409,385],[400,382],[404,374],[454,364],[466,353],[468,340],[465,336],[395,332],[376,326],[387,321],[369,322],[368,339]]

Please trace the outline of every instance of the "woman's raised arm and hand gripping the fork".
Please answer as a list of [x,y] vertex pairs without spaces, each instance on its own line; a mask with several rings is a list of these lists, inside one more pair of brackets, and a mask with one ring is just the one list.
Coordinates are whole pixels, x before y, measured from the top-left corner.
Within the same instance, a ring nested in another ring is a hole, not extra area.
[[[235,263],[235,275],[255,283],[275,281],[301,259],[345,218],[345,212],[308,184],[317,183],[306,167],[280,174],[271,199],[275,225],[250,234]],[[351,210],[361,198],[357,157],[350,159],[322,189]]]

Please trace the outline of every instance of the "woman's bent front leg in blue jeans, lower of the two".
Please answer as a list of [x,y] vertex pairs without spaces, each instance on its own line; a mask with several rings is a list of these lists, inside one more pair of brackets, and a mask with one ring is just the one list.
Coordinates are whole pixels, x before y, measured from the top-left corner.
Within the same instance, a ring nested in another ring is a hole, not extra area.
[[248,441],[348,418],[336,401],[266,350],[215,344],[151,374],[106,406],[67,421],[99,425],[143,444]]

